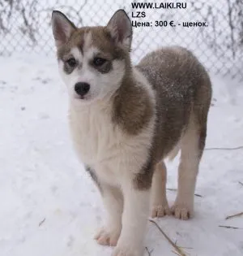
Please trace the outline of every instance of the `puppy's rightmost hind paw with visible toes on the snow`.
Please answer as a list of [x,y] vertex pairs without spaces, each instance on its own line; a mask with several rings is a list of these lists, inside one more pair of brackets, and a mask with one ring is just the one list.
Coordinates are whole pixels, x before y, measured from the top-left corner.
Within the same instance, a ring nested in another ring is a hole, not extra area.
[[190,219],[193,217],[194,207],[190,203],[175,202],[171,211],[177,219]]

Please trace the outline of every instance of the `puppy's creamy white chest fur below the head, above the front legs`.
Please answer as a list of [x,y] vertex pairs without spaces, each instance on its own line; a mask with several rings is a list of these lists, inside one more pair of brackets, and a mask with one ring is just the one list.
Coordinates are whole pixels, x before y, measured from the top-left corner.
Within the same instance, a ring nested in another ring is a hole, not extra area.
[[113,124],[108,107],[70,109],[70,132],[79,159],[109,184],[119,184],[124,175],[133,176],[140,171],[149,155],[152,131],[153,123],[138,135],[127,134]]

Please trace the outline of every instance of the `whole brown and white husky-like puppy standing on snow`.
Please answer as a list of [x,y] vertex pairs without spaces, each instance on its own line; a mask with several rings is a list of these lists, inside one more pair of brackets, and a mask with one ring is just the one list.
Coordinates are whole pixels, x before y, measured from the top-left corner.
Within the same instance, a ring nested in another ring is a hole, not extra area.
[[[132,27],[123,10],[105,27],[83,28],[53,11],[52,26],[75,150],[107,210],[96,240],[116,245],[113,256],[141,256],[150,197],[152,217],[193,215],[211,81],[181,47],[151,52],[132,67]],[[179,150],[177,199],[169,209],[164,158]]]

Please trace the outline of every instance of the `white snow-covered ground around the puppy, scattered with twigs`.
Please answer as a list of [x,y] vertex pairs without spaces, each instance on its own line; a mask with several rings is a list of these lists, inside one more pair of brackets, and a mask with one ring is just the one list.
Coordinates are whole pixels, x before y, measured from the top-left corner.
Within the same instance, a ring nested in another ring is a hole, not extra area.
[[[52,57],[0,57],[0,255],[106,256],[112,249],[92,236],[104,210],[92,180],[70,144],[67,95]],[[214,99],[207,148],[243,145],[243,85],[212,76]],[[168,188],[177,187],[177,163],[168,164]],[[198,176],[195,217],[158,220],[189,247],[187,255],[243,255],[243,150],[207,150]],[[168,191],[169,202],[176,194]],[[171,245],[149,223],[151,256]],[[148,255],[145,251],[144,255]]]

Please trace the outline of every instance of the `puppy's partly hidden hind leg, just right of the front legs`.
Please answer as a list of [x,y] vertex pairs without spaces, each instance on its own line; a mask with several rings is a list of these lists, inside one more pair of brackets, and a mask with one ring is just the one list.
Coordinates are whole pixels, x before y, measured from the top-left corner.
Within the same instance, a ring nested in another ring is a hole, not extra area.
[[164,162],[157,163],[151,189],[151,217],[170,215],[166,197],[167,170]]

